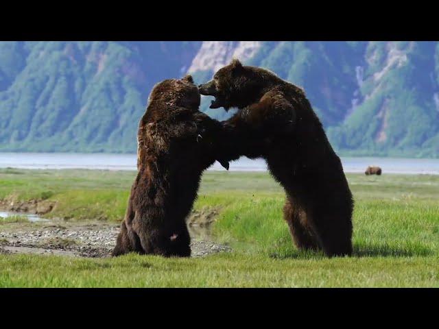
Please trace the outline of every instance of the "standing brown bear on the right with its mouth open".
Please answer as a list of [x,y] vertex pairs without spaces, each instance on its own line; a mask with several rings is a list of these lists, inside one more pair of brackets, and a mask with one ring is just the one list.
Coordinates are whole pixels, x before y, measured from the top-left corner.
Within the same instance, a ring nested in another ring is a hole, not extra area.
[[224,122],[234,142],[228,143],[228,160],[266,160],[287,194],[284,217],[297,247],[351,255],[353,197],[304,91],[239,60],[198,88],[215,97],[211,108],[239,109]]

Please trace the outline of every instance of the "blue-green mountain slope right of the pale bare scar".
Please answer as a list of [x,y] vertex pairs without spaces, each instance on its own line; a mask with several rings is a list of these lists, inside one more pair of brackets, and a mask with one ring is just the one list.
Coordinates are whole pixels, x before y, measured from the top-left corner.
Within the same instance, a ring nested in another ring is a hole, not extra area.
[[[439,156],[439,42],[261,42],[258,46],[244,62],[305,88],[341,154]],[[228,62],[232,53],[229,49],[222,62]],[[204,67],[202,77],[213,71]]]

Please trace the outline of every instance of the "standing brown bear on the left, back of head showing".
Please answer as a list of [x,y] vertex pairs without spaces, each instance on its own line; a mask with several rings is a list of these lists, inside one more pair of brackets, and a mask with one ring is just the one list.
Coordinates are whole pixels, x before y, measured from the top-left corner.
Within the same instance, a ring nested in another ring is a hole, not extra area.
[[[204,169],[215,162],[222,124],[198,110],[188,75],[165,80],[150,95],[137,134],[137,178],[112,256],[137,252],[190,256],[186,217]],[[228,162],[220,161],[226,169]]]

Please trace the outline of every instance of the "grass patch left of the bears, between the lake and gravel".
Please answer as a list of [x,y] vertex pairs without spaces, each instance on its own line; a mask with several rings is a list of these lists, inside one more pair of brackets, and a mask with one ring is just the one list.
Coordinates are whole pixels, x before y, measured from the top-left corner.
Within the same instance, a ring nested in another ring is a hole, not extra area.
[[56,202],[46,217],[120,221],[134,173],[0,169],[0,199]]

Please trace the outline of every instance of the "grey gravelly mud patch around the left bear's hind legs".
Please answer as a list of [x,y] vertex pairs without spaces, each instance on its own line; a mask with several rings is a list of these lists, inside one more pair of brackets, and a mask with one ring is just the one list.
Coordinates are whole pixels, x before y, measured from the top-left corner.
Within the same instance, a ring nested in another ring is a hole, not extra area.
[[[119,223],[48,220],[23,212],[1,212],[5,217],[25,216],[29,222],[0,224],[0,254],[43,254],[73,257],[110,257]],[[194,211],[188,219],[191,256],[230,252],[215,243],[211,224],[217,210]]]

